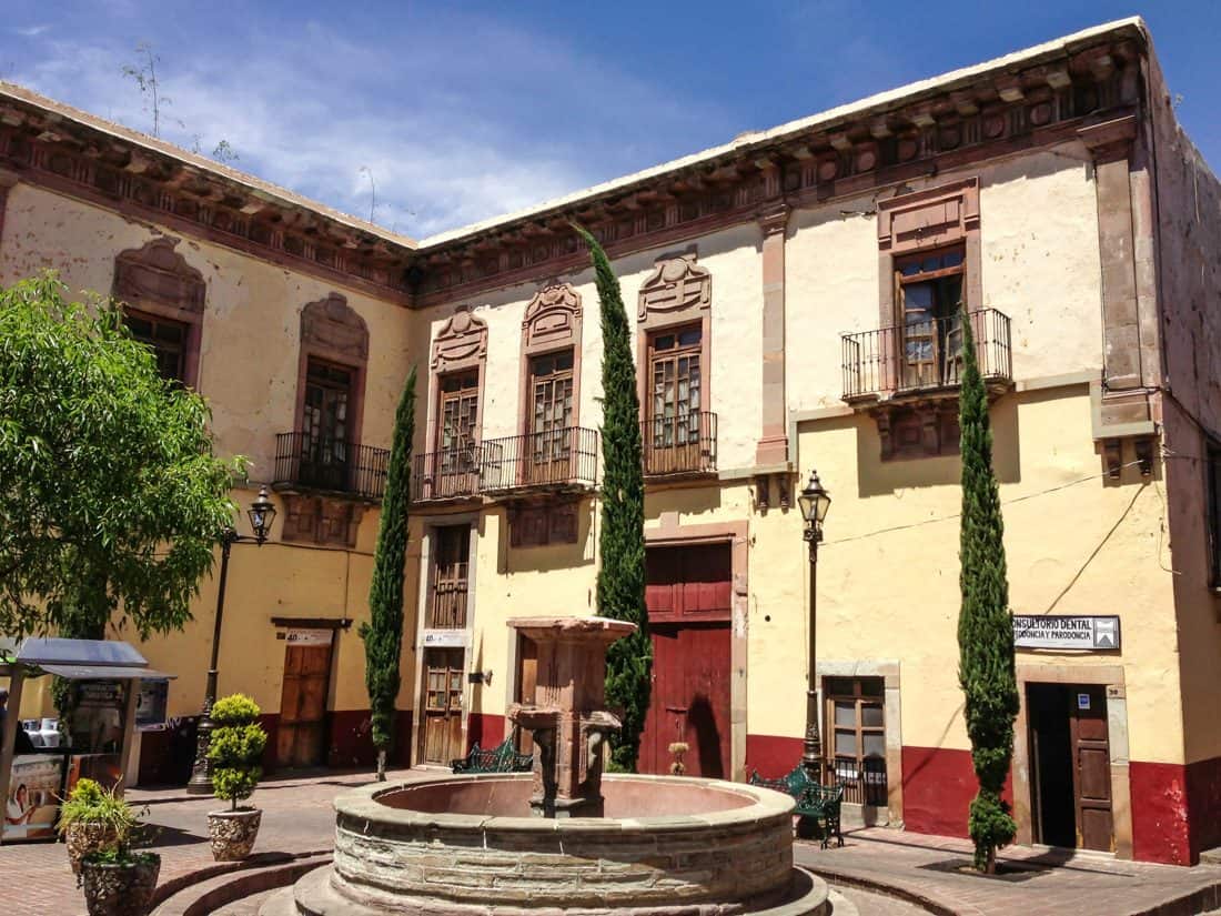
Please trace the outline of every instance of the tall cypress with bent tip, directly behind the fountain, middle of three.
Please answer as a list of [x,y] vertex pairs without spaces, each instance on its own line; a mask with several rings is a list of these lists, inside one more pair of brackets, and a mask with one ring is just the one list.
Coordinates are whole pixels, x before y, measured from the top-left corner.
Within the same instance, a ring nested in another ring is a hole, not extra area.
[[602,245],[580,226],[590,247],[602,314],[602,534],[598,613],[636,624],[607,651],[607,702],[623,711],[610,740],[614,769],[635,772],[648,712],[653,646],[645,609],[645,474],[640,451],[640,401],[631,359],[631,329],[619,281]]

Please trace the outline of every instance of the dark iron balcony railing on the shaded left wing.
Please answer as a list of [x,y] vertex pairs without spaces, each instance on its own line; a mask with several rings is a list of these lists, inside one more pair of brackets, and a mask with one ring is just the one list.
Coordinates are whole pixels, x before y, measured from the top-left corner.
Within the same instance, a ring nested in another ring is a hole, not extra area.
[[314,436],[276,436],[276,490],[316,490],[358,500],[381,501],[386,492],[389,452],[385,448]]

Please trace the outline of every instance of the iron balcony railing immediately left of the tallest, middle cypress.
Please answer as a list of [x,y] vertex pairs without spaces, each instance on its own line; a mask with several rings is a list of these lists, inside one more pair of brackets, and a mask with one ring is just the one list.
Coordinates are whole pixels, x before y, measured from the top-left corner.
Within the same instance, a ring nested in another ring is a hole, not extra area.
[[480,469],[488,495],[524,490],[592,490],[598,482],[598,431],[565,426],[493,438]]

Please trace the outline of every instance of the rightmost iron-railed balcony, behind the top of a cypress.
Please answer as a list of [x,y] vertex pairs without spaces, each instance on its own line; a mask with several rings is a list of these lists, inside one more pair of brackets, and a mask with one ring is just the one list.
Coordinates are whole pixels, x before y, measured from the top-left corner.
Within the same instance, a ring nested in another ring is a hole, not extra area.
[[[979,373],[989,390],[999,393],[1013,380],[1009,315],[983,309],[969,318]],[[842,341],[844,401],[849,403],[952,392],[962,381],[960,315],[846,333]]]

